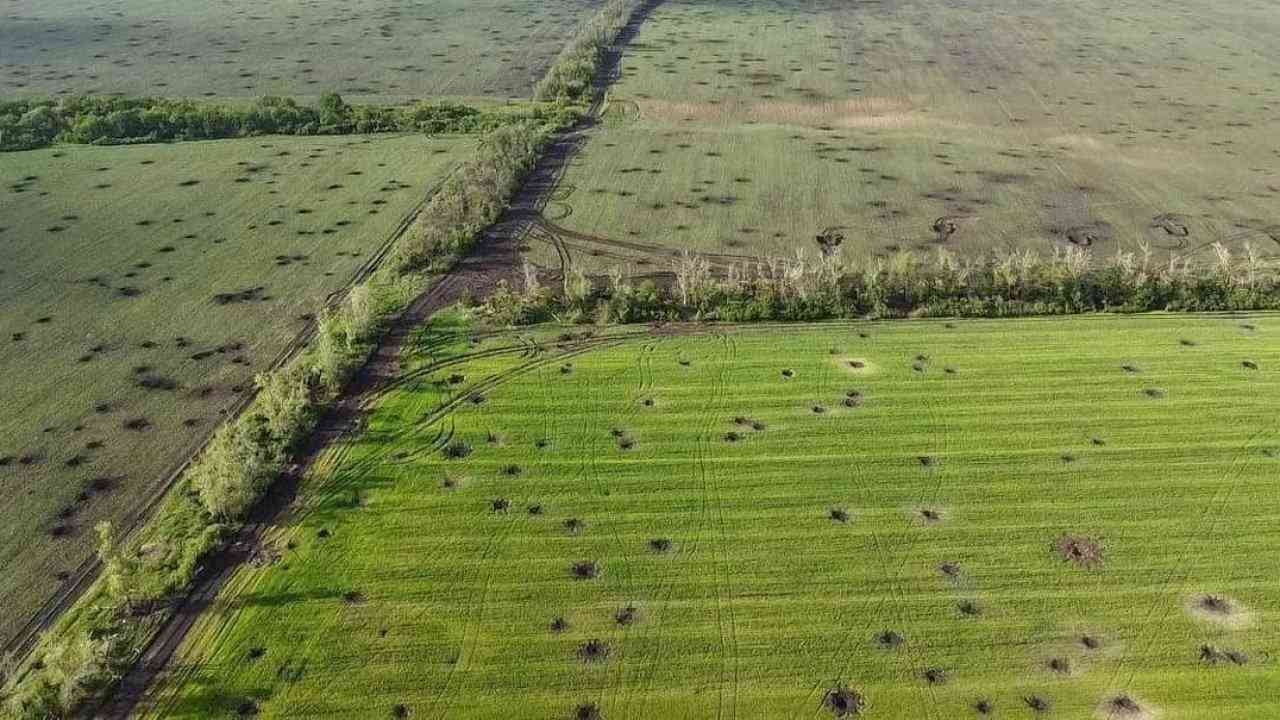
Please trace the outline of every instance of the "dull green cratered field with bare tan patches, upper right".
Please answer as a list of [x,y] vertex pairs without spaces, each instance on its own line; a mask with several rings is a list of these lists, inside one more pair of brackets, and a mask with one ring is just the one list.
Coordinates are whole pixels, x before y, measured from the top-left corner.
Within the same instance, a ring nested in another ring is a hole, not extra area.
[[671,0],[535,258],[1280,255],[1266,3]]

